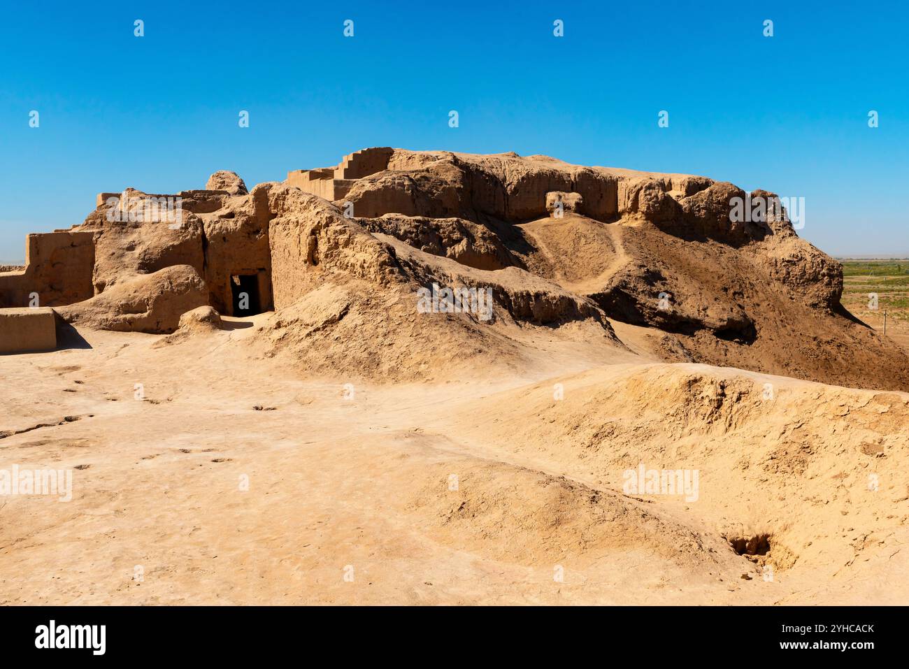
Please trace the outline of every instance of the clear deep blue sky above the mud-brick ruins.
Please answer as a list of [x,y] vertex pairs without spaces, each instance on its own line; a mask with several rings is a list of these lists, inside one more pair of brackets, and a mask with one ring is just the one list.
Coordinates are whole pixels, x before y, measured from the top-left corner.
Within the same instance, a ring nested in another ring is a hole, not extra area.
[[708,175],[804,196],[830,254],[909,255],[907,35],[896,2],[10,4],[0,261],[102,191],[252,186],[374,145]]

